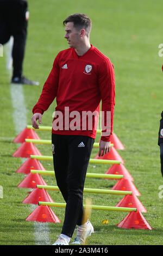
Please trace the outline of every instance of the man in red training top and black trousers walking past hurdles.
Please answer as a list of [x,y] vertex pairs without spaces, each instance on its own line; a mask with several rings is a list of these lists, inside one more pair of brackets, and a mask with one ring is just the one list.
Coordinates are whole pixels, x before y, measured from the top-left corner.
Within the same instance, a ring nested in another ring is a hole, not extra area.
[[52,151],[55,178],[66,201],[66,209],[61,234],[53,245],[68,245],[76,225],[78,229],[73,244],[80,245],[93,233],[89,220],[82,223],[83,190],[101,100],[103,126],[99,156],[110,151],[115,76],[109,58],[90,44],[91,20],[88,16],[70,15],[64,20],[64,26],[70,48],[59,52],[55,58],[40,99],[33,108],[32,124],[35,129],[39,128],[36,121],[41,124],[43,112],[56,97]]

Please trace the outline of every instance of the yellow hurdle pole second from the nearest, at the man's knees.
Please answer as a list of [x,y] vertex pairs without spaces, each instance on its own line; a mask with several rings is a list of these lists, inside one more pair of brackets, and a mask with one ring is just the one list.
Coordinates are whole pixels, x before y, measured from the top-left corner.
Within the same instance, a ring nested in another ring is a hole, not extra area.
[[[59,191],[58,186],[46,186],[46,185],[37,185],[37,188],[44,188],[45,190],[55,190]],[[84,192],[87,193],[98,193],[98,194],[120,194],[120,195],[131,195],[132,191],[123,191],[123,190],[102,190],[99,188],[84,188]]]

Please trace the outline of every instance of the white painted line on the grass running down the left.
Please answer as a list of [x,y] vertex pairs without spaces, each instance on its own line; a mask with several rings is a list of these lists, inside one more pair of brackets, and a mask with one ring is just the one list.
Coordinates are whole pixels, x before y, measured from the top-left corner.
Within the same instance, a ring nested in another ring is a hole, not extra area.
[[[11,37],[9,43],[5,46],[5,50],[7,52],[7,69],[9,70],[9,75],[11,77],[11,68],[12,68],[12,57],[11,57],[11,49],[12,49],[13,39]],[[18,135],[24,127],[27,126],[27,109],[26,102],[24,101],[23,94],[23,86],[22,84],[11,84],[10,93],[12,99],[12,106],[14,108],[14,112],[12,114],[15,131]],[[22,163],[27,159],[21,158]],[[34,211],[36,208],[35,205],[30,204],[31,211]],[[34,236],[35,236],[35,244],[36,245],[49,245],[49,228],[48,223],[42,222],[34,222]]]

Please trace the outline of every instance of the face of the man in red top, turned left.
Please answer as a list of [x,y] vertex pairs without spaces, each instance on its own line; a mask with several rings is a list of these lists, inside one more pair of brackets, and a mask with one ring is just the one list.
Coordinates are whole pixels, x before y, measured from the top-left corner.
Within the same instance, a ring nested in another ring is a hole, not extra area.
[[80,31],[78,31],[73,26],[73,22],[67,22],[65,31],[66,31],[66,34],[64,38],[67,39],[68,45],[72,48],[76,48],[80,42]]

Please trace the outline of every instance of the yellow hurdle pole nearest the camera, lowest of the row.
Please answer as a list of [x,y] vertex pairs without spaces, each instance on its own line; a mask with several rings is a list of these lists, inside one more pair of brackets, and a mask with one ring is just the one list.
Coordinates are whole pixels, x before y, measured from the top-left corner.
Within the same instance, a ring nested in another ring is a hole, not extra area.
[[[66,207],[66,203],[51,203],[51,202],[38,202],[38,205],[48,205],[48,206],[56,206],[56,207]],[[84,208],[89,205],[83,205]],[[137,208],[128,208],[128,207],[117,207],[117,206],[104,206],[104,205],[91,205],[91,209],[93,210],[106,210],[106,211],[137,211]]]

